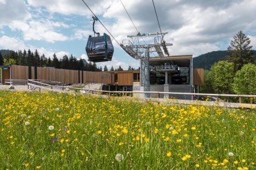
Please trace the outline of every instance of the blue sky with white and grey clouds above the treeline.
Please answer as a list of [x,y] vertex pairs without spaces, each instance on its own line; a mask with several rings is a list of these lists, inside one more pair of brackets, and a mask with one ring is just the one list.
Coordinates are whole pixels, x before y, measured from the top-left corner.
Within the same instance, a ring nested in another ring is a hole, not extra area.
[[[127,12],[140,33],[157,33],[159,27],[152,1],[84,0],[119,43],[127,35],[136,35]],[[157,15],[171,55],[192,54],[194,57],[213,50],[226,50],[238,31],[250,37],[256,47],[254,0],[157,0]],[[35,50],[59,58],[73,54],[87,59],[84,47],[92,35],[92,13],[82,0],[0,0],[0,49]],[[100,23],[96,31],[106,33]],[[113,40],[113,38],[112,38]],[[150,38],[145,38],[149,43]],[[152,42],[153,43],[153,42]],[[97,63],[127,69],[138,68],[140,62],[131,58],[113,40],[113,61]],[[156,54],[150,54],[156,56]]]

